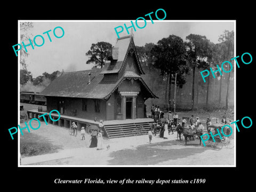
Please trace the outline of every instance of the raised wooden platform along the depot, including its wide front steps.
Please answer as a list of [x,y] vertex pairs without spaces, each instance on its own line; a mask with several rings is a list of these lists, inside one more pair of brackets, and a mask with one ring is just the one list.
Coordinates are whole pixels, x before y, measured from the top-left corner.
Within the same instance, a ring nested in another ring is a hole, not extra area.
[[[46,113],[46,111],[38,111],[37,109],[27,111],[29,118],[38,118],[40,121],[44,121],[43,117],[39,117]],[[59,117],[58,114],[51,114],[53,119]],[[78,130],[81,130],[82,126],[86,124],[98,125],[99,122],[95,122],[85,118],[78,118],[74,116],[61,115],[59,121],[52,121],[49,117],[49,113],[45,115],[47,123],[63,126],[69,128],[72,122],[75,122]],[[138,118],[138,119],[126,119],[126,120],[111,120],[104,121],[105,133],[103,134],[107,138],[117,137],[129,137],[138,134],[147,134],[148,130],[153,127],[154,119],[151,118]]]

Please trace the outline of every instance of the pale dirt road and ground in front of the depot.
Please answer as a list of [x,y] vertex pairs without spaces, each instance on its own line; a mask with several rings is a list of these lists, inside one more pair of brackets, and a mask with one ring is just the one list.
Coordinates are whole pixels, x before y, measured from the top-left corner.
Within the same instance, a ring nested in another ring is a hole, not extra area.
[[70,136],[68,129],[52,124],[42,123],[40,129],[20,136],[21,142],[36,136],[41,138],[38,142],[51,143],[57,149],[57,153],[53,154],[22,157],[23,164],[30,165],[234,165],[234,148],[215,150],[199,146],[199,140],[190,141],[185,146],[183,142],[176,140],[176,132],[169,135],[169,139],[166,140],[159,138],[158,135],[153,136],[152,144],[148,143],[148,135],[105,139],[103,143],[105,146],[110,145],[109,150],[88,148],[90,135],[81,140],[79,133],[77,137]]

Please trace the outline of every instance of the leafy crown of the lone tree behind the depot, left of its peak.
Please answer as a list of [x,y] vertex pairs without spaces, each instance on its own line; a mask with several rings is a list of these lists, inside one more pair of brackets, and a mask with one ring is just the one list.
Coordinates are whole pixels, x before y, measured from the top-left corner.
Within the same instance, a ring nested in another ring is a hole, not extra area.
[[98,42],[92,44],[91,49],[85,53],[90,59],[86,61],[86,64],[95,63],[95,66],[104,66],[108,58],[108,54],[111,51],[112,45],[107,42]]

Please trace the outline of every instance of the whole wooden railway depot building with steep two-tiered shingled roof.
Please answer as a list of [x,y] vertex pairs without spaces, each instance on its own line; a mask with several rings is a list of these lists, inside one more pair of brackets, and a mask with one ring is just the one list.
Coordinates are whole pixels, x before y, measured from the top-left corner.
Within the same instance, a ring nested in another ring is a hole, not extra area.
[[145,73],[133,37],[125,36],[117,39],[102,69],[63,73],[41,94],[47,99],[48,112],[57,109],[61,118],[68,116],[70,122],[74,121],[72,117],[87,122],[94,122],[96,117],[104,120],[105,126],[107,121],[114,126],[113,120],[116,124],[127,119],[152,122],[153,119],[146,118],[145,101],[157,96],[143,81],[142,74]]

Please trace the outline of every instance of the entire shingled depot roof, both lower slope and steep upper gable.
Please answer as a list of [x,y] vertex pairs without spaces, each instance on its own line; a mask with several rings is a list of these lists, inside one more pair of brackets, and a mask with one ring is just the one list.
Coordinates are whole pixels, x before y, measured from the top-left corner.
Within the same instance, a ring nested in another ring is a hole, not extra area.
[[[145,81],[143,81],[142,77],[133,71],[125,71],[121,78],[111,79],[111,81],[106,81],[103,78],[104,74],[118,73],[118,71],[121,70],[131,43],[133,43],[132,37],[122,37],[122,39],[118,40],[115,45],[113,59],[111,62],[106,63],[102,69],[63,73],[58,78],[54,79],[41,94],[53,97],[108,99],[111,93],[113,93],[125,79],[133,78],[141,81],[141,84],[147,90],[147,93],[151,98],[157,98],[157,96],[149,89]],[[134,43],[132,46],[134,46],[135,49]],[[135,52],[135,54],[137,55],[137,52]],[[141,69],[139,61],[138,65]],[[89,73],[91,74],[90,83]],[[142,69],[141,74],[144,74]]]

